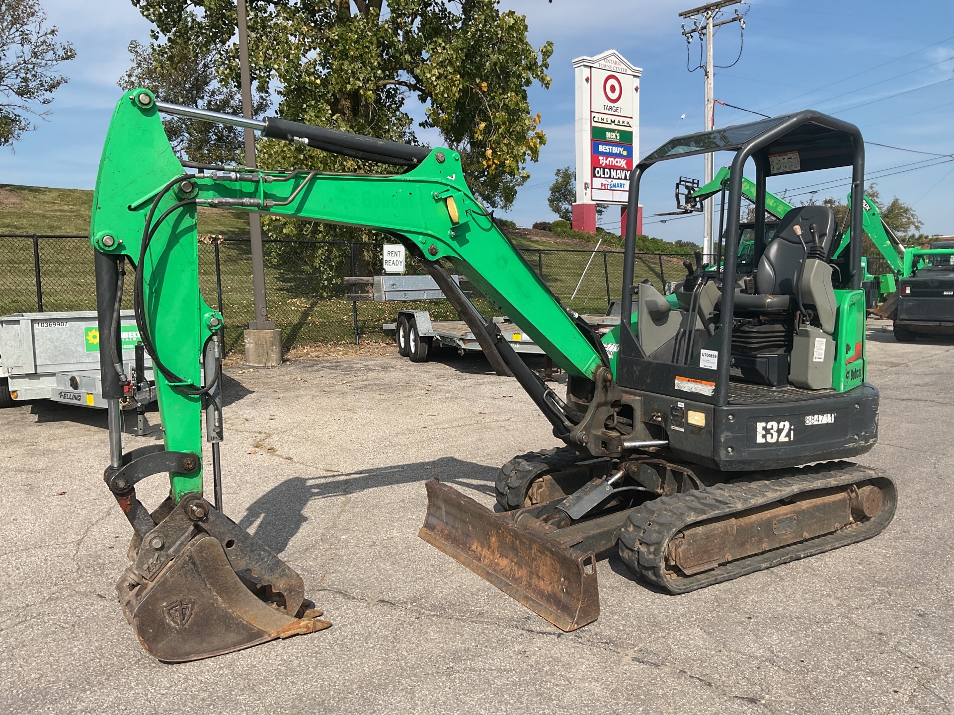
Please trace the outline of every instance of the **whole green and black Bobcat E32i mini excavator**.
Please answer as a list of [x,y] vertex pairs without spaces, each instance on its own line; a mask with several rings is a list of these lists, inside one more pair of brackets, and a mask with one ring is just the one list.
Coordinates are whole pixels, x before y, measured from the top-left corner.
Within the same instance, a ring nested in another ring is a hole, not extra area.
[[[402,173],[180,162],[159,112],[251,127]],[[720,150],[736,153],[723,211],[724,272],[689,264],[671,299],[633,285],[642,174],[674,156]],[[133,563],[116,589],[140,643],[160,660],[188,661],[328,625],[304,600],[299,575],[222,513],[222,317],[198,290],[197,206],[362,226],[422,260],[567,446],[508,462],[497,480],[500,513],[427,480],[421,536],[560,628],[597,617],[595,560],[613,547],[639,578],[680,593],[878,534],[894,514],[894,483],[836,461],[877,439],[878,391],[864,381],[861,234],[856,240],[852,232],[851,250],[833,261],[834,216],[825,207],[793,209],[758,249],[755,280],[722,280],[736,275],[739,184],[750,157],[757,233],[768,174],[852,166],[861,197],[861,133],[818,112],[672,140],[633,172],[622,322],[599,339],[497,229],[467,188],[458,153],[125,93],[99,167],[91,241],[110,400],[105,479],[135,532]],[[860,211],[856,200],[854,225]],[[567,372],[566,398],[474,309],[442,259]],[[119,399],[135,390],[117,359],[127,262],[139,332],[156,368],[164,444],[123,452]],[[203,493],[203,414],[211,501]],[[169,474],[169,497],[150,511],[135,485],[161,473]]]

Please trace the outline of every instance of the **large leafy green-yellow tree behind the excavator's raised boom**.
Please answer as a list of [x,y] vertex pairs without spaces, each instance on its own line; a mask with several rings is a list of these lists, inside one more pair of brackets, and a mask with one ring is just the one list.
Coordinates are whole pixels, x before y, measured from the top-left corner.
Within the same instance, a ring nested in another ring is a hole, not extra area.
[[[219,81],[238,87],[234,0],[133,0],[158,36],[189,25]],[[528,88],[550,86],[551,43],[527,41],[527,22],[495,0],[248,0],[253,78],[279,98],[286,119],[415,142],[418,124],[436,128],[461,153],[470,188],[506,209],[526,182],[546,136],[531,114]],[[337,155],[261,143],[262,166],[330,171],[380,169]]]

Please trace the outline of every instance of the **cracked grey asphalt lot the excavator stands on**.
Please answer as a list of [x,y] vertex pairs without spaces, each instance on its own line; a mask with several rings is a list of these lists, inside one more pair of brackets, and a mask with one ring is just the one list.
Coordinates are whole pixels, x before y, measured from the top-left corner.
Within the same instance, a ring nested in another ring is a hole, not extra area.
[[130,529],[102,483],[104,414],[4,410],[0,710],[950,712],[954,340],[899,344],[875,326],[881,440],[861,461],[899,484],[884,533],[678,597],[612,557],[599,620],[570,634],[417,537],[424,480],[489,506],[500,464],[555,446],[517,384],[475,358],[226,369],[225,511],[334,625],[192,664],[146,655],[116,603]]

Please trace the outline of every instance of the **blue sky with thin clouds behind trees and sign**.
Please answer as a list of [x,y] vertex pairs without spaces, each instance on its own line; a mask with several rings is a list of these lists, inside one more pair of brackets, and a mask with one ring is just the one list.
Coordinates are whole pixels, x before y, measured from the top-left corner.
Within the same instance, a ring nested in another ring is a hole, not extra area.
[[[702,128],[702,72],[686,69],[678,17],[696,4],[503,0],[502,7],[528,16],[534,45],[548,39],[555,45],[552,87],[530,92],[549,141],[539,163],[529,165],[531,177],[508,217],[520,225],[554,217],[547,207],[553,172],[573,161],[574,57],[615,49],[643,68],[641,153],[675,134]],[[115,83],[128,66],[126,47],[130,40],[147,40],[150,28],[129,0],[42,0],[42,5],[61,38],[73,42],[77,57],[64,68],[71,81],[56,93],[50,120],[39,122],[15,153],[0,153],[0,183],[92,189],[118,92]],[[716,71],[716,98],[767,114],[804,108],[834,113],[859,125],[867,141],[913,150],[869,144],[867,174],[877,180],[882,197],[898,195],[914,205],[925,233],[954,233],[954,202],[945,198],[954,187],[954,162],[932,155],[954,153],[954,81],[945,81],[954,77],[954,3],[920,0],[900,7],[888,0],[754,0],[738,7],[749,7],[744,48],[734,67]],[[716,64],[736,59],[737,24],[716,33],[715,47]],[[697,43],[692,49],[698,51]],[[755,118],[716,109],[716,126]],[[722,156],[728,160],[729,154]],[[644,179],[645,231],[701,242],[700,218],[663,224],[651,216],[674,209],[678,175],[702,175],[701,158],[668,164]],[[847,187],[838,184],[845,175],[833,170],[779,177],[770,189],[788,188],[799,194],[796,200],[808,198],[809,191],[819,191],[818,198],[843,196]],[[613,208],[607,215],[608,229],[615,229],[615,213]]]

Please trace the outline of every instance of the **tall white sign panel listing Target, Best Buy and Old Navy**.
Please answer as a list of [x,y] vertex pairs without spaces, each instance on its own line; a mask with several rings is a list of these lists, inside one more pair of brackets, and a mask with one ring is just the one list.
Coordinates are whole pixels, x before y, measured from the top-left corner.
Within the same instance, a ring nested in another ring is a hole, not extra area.
[[[577,57],[576,201],[625,204],[639,153],[639,77],[619,52]],[[575,223],[575,222],[574,222]]]

